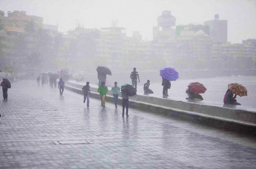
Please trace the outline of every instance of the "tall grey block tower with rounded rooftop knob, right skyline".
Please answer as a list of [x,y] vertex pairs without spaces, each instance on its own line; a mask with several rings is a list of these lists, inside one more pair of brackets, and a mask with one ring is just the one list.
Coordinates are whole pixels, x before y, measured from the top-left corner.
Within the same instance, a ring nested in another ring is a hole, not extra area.
[[214,15],[214,20],[204,22],[205,26],[210,27],[212,43],[227,42],[227,20],[219,20],[219,15]]

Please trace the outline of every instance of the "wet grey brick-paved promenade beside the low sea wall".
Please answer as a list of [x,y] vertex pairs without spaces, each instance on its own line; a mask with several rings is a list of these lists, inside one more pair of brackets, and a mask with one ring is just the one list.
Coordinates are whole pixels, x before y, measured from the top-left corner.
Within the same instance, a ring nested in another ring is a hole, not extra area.
[[49,85],[0,92],[0,169],[255,169],[256,138],[90,99]]

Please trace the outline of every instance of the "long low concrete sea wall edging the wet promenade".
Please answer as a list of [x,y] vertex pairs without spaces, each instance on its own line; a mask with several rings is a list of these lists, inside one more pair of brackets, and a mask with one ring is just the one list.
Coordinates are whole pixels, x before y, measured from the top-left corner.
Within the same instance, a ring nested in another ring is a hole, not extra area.
[[[82,85],[71,82],[66,82],[65,86],[66,89],[80,94],[83,94],[82,87]],[[99,99],[97,88],[91,87],[90,89],[91,97]],[[107,96],[109,97],[106,97],[106,101],[113,102],[113,96]],[[136,95],[129,100],[129,107],[132,108],[177,117],[212,127],[229,128],[256,135],[256,112],[145,95]],[[121,98],[118,99],[118,104],[121,104]]]

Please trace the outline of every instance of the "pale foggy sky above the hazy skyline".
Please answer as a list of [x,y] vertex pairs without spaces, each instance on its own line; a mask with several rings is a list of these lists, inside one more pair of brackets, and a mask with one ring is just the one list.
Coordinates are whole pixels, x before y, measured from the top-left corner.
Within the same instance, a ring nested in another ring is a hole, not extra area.
[[59,31],[109,27],[112,19],[125,27],[128,36],[140,31],[144,40],[152,39],[152,27],[163,10],[172,11],[176,24],[203,24],[227,19],[228,41],[241,43],[256,38],[256,0],[0,0],[0,10],[22,10],[44,18],[44,24],[59,24]]

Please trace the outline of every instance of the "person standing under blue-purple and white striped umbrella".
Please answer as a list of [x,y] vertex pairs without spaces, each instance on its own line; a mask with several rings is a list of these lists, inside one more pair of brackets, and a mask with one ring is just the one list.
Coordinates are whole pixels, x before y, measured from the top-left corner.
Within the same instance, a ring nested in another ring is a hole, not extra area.
[[176,81],[179,78],[179,73],[173,68],[163,68],[160,70],[160,76],[162,77],[163,86],[163,98],[167,98],[168,89],[171,88],[170,81]]

